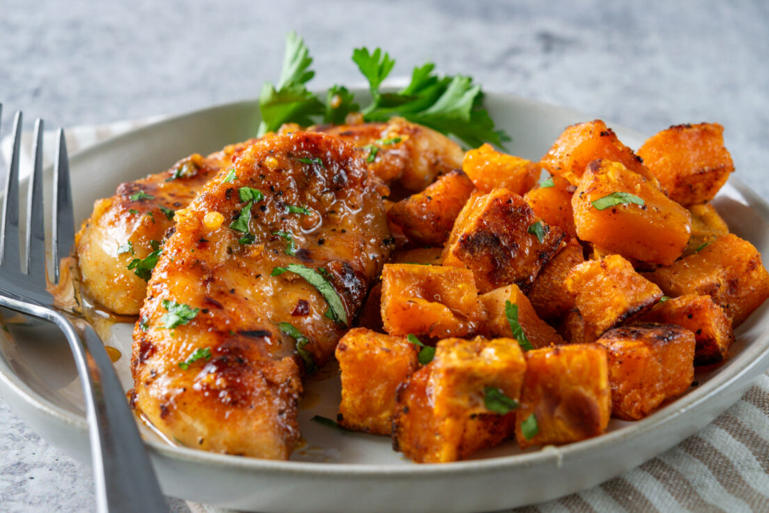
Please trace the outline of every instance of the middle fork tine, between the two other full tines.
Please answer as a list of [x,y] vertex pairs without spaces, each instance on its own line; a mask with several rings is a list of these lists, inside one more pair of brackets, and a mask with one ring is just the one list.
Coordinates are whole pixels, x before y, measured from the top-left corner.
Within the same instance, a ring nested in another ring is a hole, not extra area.
[[32,281],[45,286],[45,205],[43,204],[43,120],[35,121],[35,165],[29,175],[25,270]]

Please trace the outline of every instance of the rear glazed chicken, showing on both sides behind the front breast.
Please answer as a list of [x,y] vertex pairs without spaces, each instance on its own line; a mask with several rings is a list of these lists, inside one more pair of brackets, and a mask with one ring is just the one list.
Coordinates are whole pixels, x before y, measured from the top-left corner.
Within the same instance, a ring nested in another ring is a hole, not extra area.
[[[298,126],[288,125],[281,133],[296,130]],[[464,155],[451,139],[403,118],[311,130],[351,143],[374,175],[412,192],[438,174],[461,168]],[[76,242],[85,295],[116,314],[137,315],[146,295],[147,268],[154,262],[157,243],[173,225],[173,211],[189,205],[208,179],[253,142],[231,145],[205,158],[192,155],[168,171],[121,184],[112,198],[96,202]],[[149,255],[153,255],[149,261],[141,263]],[[128,268],[133,261],[135,267]]]

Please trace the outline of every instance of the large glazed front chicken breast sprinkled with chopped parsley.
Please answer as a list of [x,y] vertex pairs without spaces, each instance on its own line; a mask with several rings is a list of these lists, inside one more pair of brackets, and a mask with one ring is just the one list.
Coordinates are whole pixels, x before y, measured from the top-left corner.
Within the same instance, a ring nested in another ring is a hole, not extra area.
[[176,213],[134,331],[134,404],[208,451],[285,459],[301,376],[391,251],[384,188],[328,135],[262,139]]

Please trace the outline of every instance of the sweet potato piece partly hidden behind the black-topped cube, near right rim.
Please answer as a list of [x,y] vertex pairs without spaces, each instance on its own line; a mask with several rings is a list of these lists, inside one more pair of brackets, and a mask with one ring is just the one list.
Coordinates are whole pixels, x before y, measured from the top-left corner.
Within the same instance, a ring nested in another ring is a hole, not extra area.
[[660,301],[639,321],[672,324],[694,332],[694,365],[726,359],[734,342],[731,320],[709,295],[687,294]]

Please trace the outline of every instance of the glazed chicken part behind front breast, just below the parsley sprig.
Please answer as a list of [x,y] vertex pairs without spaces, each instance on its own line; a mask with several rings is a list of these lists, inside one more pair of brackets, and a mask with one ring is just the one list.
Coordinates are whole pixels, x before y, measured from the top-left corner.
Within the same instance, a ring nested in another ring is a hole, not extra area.
[[436,176],[462,168],[462,148],[445,135],[404,118],[386,123],[319,125],[311,130],[336,135],[365,155],[368,168],[388,185],[398,182],[419,192]]

